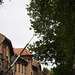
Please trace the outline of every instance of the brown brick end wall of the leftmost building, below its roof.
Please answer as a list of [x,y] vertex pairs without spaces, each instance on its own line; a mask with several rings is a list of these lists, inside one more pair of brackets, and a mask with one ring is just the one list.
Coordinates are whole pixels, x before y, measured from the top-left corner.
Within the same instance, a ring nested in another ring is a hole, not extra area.
[[[7,69],[10,67],[10,50],[6,42],[0,45],[0,73],[5,74]],[[7,75],[9,75],[8,72]]]

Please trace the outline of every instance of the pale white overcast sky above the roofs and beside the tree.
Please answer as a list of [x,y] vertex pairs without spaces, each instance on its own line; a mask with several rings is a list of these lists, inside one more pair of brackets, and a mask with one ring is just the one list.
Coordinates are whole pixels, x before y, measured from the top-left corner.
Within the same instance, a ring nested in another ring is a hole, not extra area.
[[[30,18],[26,10],[29,2],[30,0],[4,0],[0,9],[0,33],[11,40],[14,48],[23,48],[34,34],[33,30],[29,30]],[[36,37],[31,43],[35,40]],[[42,67],[50,69],[51,65]]]

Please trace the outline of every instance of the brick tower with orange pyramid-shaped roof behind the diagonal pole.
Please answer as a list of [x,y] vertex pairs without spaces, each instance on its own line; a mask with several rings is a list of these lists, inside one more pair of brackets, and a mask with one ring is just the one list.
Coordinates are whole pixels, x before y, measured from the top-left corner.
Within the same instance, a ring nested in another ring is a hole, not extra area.
[[[23,50],[23,48],[15,48],[14,52],[15,52],[15,54],[19,55],[22,50]],[[26,75],[32,75],[32,57],[33,57],[33,54],[30,53],[27,49],[25,49],[24,52],[21,54],[21,57],[28,62],[28,65],[26,67]]]

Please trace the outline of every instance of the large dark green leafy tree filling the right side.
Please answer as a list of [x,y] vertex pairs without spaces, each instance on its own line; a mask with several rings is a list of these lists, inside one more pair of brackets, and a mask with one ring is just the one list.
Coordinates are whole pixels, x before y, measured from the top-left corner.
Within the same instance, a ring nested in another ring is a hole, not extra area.
[[75,1],[31,0],[27,10],[31,28],[41,37],[30,49],[39,60],[55,59],[55,64],[62,69],[65,67],[70,75],[75,50]]

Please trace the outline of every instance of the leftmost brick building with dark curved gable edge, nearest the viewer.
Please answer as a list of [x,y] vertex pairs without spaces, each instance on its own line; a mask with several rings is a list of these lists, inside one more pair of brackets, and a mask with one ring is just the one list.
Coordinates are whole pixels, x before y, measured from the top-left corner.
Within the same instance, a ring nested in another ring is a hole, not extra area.
[[[0,33],[0,75],[4,75],[11,65],[11,57],[14,55],[11,41]],[[12,72],[9,71],[7,75]]]

